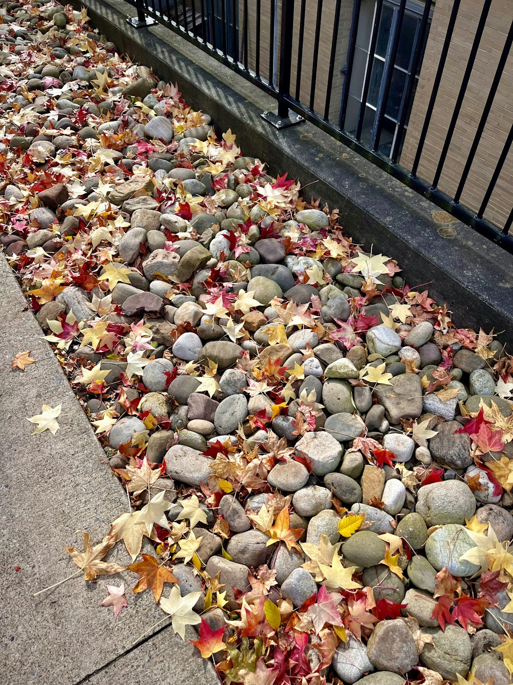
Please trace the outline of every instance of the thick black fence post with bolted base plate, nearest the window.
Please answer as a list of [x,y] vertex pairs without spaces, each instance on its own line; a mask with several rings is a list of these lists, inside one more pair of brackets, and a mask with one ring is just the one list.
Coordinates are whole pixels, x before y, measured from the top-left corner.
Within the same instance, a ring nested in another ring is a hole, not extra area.
[[[273,0],[271,0],[273,1]],[[282,0],[280,25],[280,66],[278,75],[278,113],[263,112],[262,117],[274,127],[281,129],[301,123],[304,118],[289,110],[292,65],[292,36],[294,28],[294,0]]]

